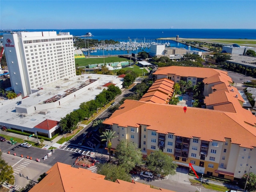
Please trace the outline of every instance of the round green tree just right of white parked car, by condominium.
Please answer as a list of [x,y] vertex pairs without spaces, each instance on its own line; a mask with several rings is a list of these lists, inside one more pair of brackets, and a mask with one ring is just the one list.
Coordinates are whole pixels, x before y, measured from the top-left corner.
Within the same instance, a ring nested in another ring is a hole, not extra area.
[[171,156],[165,154],[161,150],[155,151],[148,155],[147,166],[155,174],[174,175],[177,164],[175,164]]

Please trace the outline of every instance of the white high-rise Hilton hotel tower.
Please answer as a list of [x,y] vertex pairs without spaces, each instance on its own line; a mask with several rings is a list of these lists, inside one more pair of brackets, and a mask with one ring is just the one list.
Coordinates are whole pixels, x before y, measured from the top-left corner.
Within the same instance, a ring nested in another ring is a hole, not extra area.
[[4,34],[12,89],[22,96],[50,82],[76,76],[73,36],[55,31]]

